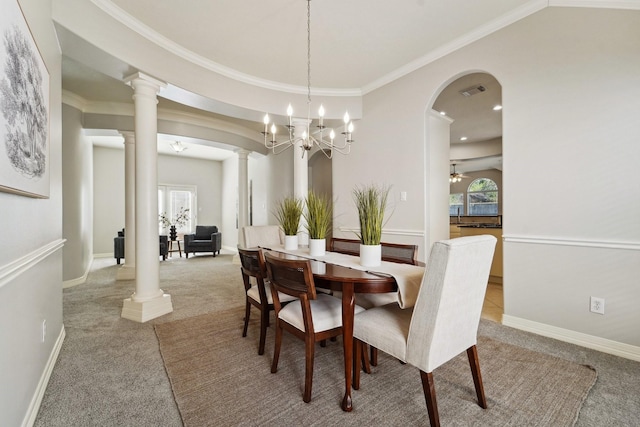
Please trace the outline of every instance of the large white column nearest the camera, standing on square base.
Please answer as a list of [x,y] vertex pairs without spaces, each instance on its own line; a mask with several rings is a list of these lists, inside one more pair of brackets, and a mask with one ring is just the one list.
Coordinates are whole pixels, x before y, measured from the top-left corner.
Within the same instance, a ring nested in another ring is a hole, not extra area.
[[173,311],[171,296],[160,289],[158,256],[157,94],[166,85],[142,73],[125,82],[135,105],[136,291],[124,300],[122,317],[146,322]]

